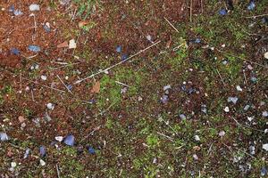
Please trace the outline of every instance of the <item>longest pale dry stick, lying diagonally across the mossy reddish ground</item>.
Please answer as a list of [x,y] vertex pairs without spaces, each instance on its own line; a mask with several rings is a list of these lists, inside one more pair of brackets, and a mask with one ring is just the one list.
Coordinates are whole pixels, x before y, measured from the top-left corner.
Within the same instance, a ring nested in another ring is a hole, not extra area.
[[124,63],[124,62],[126,62],[126,61],[129,61],[131,58],[134,58],[135,56],[138,56],[138,54],[146,52],[148,49],[154,47],[156,44],[159,44],[160,42],[161,42],[161,41],[158,41],[158,42],[156,42],[155,44],[151,44],[151,45],[149,45],[147,48],[145,48],[145,49],[139,51],[138,53],[135,53],[135,54],[131,55],[131,56],[130,56],[129,58],[127,58],[126,60],[124,60],[124,61],[120,61],[120,62],[114,64],[113,66],[111,66],[111,67],[109,67],[109,68],[107,68],[107,69],[101,69],[100,71],[96,72],[95,74],[92,74],[92,75],[90,75],[90,76],[88,76],[88,77],[82,78],[82,79],[76,81],[76,82],[74,83],[74,85],[80,84],[81,82],[87,80],[88,78],[92,78],[92,77],[95,77],[95,76],[97,76],[97,75],[99,75],[99,74],[105,73],[105,72],[107,72],[109,69],[113,69],[113,68],[115,68],[115,67],[121,65],[122,63]]

